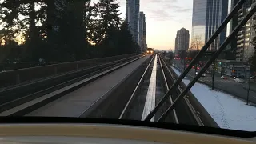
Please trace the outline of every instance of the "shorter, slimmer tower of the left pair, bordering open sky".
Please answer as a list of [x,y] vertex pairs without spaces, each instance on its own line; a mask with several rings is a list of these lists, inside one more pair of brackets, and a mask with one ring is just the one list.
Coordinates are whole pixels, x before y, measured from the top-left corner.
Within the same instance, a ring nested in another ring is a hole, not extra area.
[[144,41],[146,41],[146,17],[143,12],[140,12],[138,20],[138,45],[141,47],[141,51],[145,50]]

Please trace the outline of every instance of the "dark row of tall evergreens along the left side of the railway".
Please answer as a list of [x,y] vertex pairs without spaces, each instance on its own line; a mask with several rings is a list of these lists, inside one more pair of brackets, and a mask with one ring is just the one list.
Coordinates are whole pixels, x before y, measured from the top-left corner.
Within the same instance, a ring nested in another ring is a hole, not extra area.
[[136,53],[116,0],[4,0],[0,62],[49,64]]

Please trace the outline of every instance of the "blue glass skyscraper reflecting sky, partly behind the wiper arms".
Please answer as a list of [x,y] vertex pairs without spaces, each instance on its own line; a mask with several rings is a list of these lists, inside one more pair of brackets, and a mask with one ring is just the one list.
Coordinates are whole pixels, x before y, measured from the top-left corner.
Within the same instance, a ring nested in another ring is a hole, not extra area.
[[[228,11],[227,0],[194,0],[192,42],[196,38],[204,44],[221,25]],[[226,29],[218,35],[208,50],[217,50],[226,38]]]

